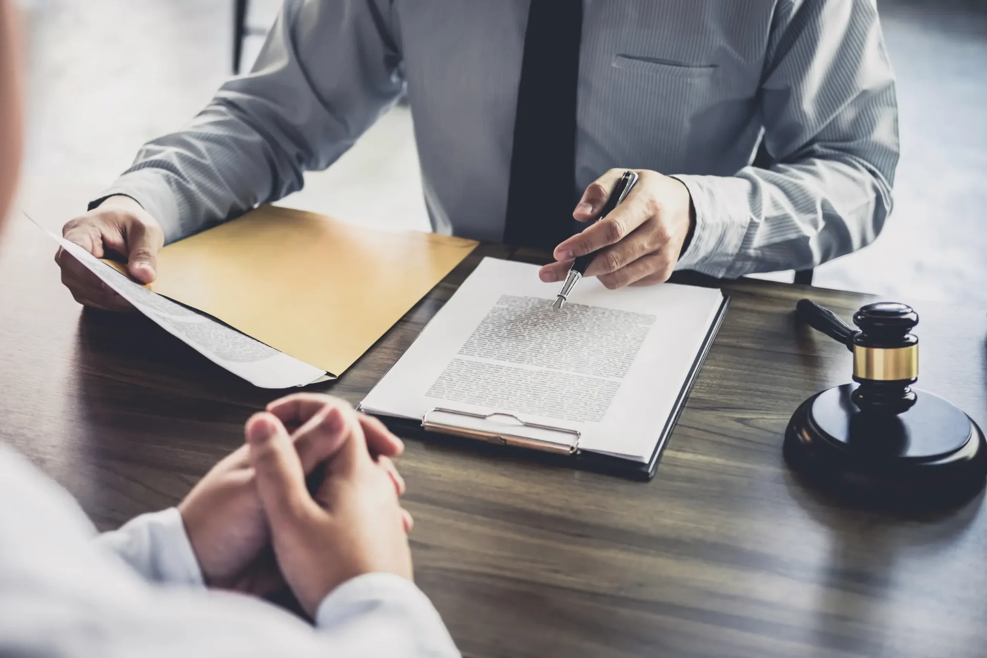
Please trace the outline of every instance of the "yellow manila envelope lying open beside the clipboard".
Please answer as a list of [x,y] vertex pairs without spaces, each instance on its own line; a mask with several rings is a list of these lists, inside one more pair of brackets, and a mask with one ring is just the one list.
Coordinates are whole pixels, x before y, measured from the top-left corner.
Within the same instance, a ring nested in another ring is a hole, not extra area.
[[165,247],[147,287],[339,376],[477,244],[265,205]]

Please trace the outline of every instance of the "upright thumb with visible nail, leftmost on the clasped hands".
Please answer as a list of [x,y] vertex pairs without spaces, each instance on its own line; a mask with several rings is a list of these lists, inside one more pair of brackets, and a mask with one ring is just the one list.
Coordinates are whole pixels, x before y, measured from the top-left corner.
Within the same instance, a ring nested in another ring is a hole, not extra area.
[[284,425],[270,413],[255,413],[247,421],[250,461],[258,495],[272,529],[292,525],[315,502],[305,488],[305,474]]

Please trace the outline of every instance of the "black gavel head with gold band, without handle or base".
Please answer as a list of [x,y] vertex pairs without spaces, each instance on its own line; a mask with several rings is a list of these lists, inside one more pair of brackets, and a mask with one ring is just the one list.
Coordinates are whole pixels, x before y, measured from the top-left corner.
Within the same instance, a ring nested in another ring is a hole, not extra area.
[[918,323],[911,307],[895,302],[869,304],[854,314],[860,329],[852,338],[854,381],[860,387],[852,399],[862,411],[901,413],[915,403],[919,339],[911,330]]

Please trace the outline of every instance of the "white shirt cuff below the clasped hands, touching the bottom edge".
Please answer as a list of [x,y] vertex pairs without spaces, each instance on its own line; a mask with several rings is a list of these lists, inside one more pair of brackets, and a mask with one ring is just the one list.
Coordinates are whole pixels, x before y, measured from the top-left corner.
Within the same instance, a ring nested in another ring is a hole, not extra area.
[[391,573],[366,573],[342,583],[323,599],[315,622],[320,631],[336,635],[339,646],[352,643],[366,655],[460,655],[428,597]]

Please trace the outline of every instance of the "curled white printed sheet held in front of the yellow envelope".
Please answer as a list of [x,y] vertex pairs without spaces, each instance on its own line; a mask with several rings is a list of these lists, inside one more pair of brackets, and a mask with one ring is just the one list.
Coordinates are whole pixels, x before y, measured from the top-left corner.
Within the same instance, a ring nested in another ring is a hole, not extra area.
[[[30,218],[29,218],[30,219]],[[75,256],[134,308],[188,343],[204,357],[254,386],[287,389],[326,378],[326,371],[299,361],[245,333],[148,290],[78,245],[51,232],[62,249]]]

